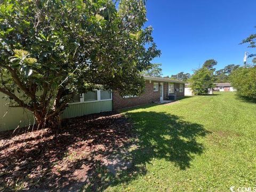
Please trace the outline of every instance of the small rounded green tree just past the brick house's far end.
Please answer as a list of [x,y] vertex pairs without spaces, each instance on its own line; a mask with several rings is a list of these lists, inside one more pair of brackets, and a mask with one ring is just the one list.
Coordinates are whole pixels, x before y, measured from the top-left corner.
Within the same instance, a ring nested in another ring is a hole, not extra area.
[[214,83],[212,69],[202,67],[195,70],[194,74],[189,79],[189,82],[191,83],[190,87],[194,94],[208,94],[208,89],[212,89]]

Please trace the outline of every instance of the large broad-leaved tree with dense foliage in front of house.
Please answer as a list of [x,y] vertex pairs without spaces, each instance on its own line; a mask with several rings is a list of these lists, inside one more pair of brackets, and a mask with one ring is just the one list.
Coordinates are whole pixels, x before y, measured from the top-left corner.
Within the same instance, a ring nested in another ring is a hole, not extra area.
[[[15,1],[0,4],[0,91],[10,107],[56,127],[75,94],[141,94],[141,71],[161,53],[143,27],[143,0]],[[147,47],[146,47],[147,45]]]

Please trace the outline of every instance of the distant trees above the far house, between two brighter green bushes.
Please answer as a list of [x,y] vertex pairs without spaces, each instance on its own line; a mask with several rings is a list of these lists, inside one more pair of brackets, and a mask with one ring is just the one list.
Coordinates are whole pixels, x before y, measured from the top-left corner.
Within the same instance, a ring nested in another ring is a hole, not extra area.
[[216,83],[230,82],[230,74],[239,68],[239,65],[227,65],[225,68],[215,71]]

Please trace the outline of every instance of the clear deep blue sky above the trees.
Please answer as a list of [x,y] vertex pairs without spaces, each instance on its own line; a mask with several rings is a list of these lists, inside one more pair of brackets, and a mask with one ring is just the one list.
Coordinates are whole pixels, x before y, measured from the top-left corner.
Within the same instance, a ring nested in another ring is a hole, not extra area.
[[163,75],[193,73],[207,59],[217,69],[242,65],[242,39],[256,33],[255,0],[148,0],[146,26],[153,26],[154,41],[162,55]]

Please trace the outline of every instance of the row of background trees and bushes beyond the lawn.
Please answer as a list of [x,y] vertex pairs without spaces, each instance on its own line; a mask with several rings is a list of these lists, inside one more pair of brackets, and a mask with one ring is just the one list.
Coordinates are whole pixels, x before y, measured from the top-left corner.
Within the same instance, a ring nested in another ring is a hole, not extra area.
[[[241,44],[248,43],[250,48],[256,47],[256,34],[252,34],[242,41]],[[243,98],[256,100],[256,54],[248,55],[252,58],[252,64],[244,63],[243,66],[227,65],[223,69],[216,70],[217,61],[209,59],[204,62],[201,68],[194,70],[193,74],[180,72],[164,78],[178,79],[190,83],[194,94],[208,94],[209,89],[215,87],[214,83],[231,83],[237,90],[237,94]],[[161,64],[152,65],[152,68],[144,74],[161,77]]]

